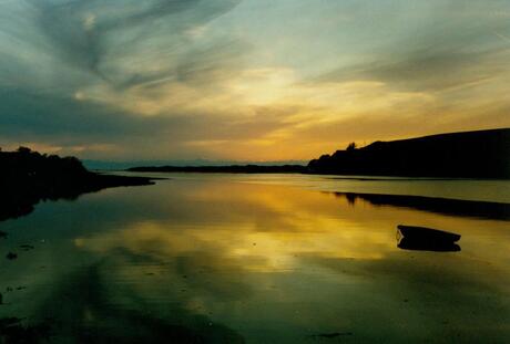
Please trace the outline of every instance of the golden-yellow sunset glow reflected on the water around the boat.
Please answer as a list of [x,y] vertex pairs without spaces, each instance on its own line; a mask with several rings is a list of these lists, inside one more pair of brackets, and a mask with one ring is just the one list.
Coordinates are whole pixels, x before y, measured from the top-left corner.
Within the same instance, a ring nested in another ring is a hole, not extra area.
[[[373,206],[330,192],[241,183],[171,188],[167,207],[193,213],[134,222],[118,231],[76,238],[76,247],[108,252],[118,247],[157,259],[206,252],[227,257],[244,270],[297,269],[300,257],[382,259],[396,249],[399,223],[441,228],[463,234],[462,250],[509,262],[508,222],[448,217],[391,206]],[[163,207],[164,209],[164,207]],[[164,211],[164,210],[163,210]]]

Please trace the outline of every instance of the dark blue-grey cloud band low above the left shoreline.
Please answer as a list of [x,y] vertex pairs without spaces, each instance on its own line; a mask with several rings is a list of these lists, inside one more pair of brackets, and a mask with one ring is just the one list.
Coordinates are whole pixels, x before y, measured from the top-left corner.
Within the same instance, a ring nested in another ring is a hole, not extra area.
[[[272,117],[203,112],[140,116],[108,104],[21,91],[0,92],[0,113],[3,146],[39,142],[70,150],[82,147],[84,156],[114,153],[128,158],[201,156],[210,152],[207,143],[255,139],[286,125],[285,113]],[[204,145],[194,145],[197,140]]]

